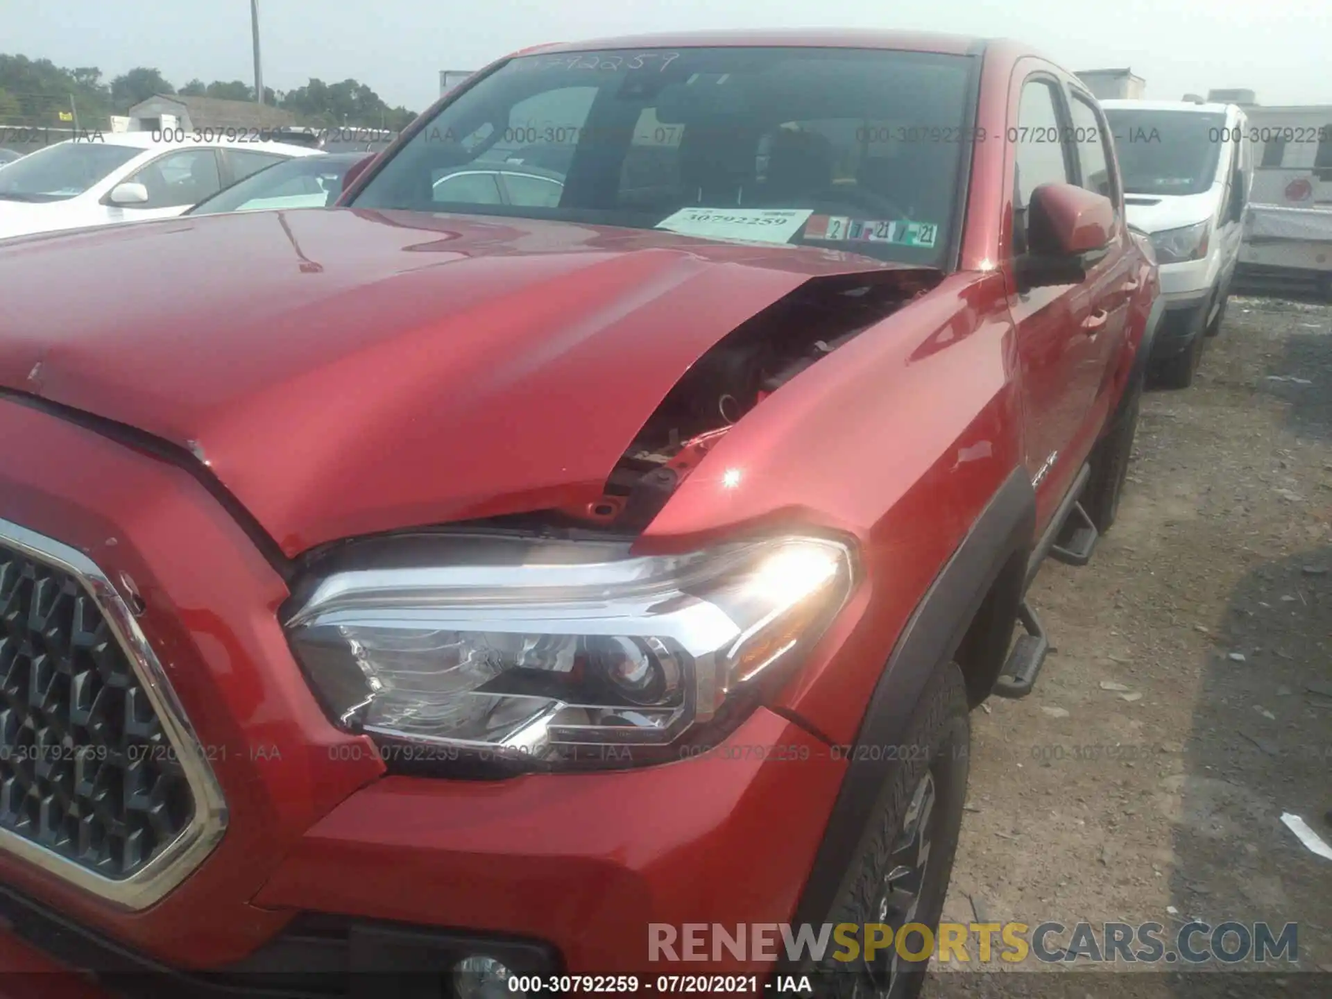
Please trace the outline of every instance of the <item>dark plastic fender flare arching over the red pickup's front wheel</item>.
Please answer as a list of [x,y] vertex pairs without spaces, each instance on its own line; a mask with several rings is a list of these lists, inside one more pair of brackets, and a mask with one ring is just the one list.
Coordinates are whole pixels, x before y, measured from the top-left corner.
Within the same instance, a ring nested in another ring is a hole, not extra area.
[[[900,743],[930,675],[956,655],[1003,567],[1015,553],[1023,553],[1022,565],[1026,566],[1024,553],[1032,545],[1035,529],[1036,493],[1026,469],[1019,466],[1004,480],[916,605],[874,687],[855,745]],[[872,832],[880,795],[896,766],[900,762],[895,759],[851,754],[823,840],[795,906],[795,926],[827,922],[848,874],[848,858],[860,854],[864,839]],[[778,962],[778,974],[789,972],[793,968],[783,958]]]

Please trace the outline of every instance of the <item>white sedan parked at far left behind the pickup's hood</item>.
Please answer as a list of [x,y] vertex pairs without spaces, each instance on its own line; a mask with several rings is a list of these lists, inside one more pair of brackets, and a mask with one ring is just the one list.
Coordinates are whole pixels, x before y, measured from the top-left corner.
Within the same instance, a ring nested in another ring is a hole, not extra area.
[[169,218],[225,186],[317,149],[285,143],[155,143],[152,132],[67,140],[0,170],[0,240]]

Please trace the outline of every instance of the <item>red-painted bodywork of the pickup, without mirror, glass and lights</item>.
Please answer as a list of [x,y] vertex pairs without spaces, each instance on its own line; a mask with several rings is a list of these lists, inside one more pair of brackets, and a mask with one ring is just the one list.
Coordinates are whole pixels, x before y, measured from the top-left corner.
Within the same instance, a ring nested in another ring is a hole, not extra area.
[[[990,136],[1016,124],[1028,71],[1072,80],[991,47],[978,108]],[[638,543],[682,549],[778,525],[858,542],[851,605],[771,705],[834,742],[854,738],[903,623],[999,484],[1058,452],[1038,490],[1044,526],[1119,401],[1156,294],[1154,268],[1118,225],[1087,282],[1019,296],[1012,170],[1010,144],[976,143],[960,272],[766,398]],[[286,229],[278,213],[254,213],[7,244],[0,286],[63,273],[77,276],[79,294],[7,296],[0,384],[197,441],[289,554],[587,502],[725,333],[811,276],[884,269],[813,249],[518,220],[282,216]],[[135,578],[144,631],[230,807],[214,854],[143,914],[15,860],[0,859],[4,882],[189,967],[240,958],[298,910],[531,934],[583,972],[642,971],[647,922],[793,911],[842,774],[809,729],[759,709],[727,743],[803,746],[805,762],[742,749],[622,774],[382,778],[368,753],[336,758],[368,746],[321,714],[276,621],[282,581],[193,478],[11,401],[0,401],[0,517]],[[253,759],[257,749],[277,749],[280,762]]]

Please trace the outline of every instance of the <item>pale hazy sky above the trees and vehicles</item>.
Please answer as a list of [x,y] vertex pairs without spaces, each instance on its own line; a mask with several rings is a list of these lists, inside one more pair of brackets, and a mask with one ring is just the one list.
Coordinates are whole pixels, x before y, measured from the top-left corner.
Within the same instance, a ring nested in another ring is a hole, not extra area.
[[[1131,67],[1147,96],[1247,87],[1261,104],[1332,104],[1324,0],[258,0],[264,84],[354,77],[421,111],[441,69],[543,41],[626,32],[872,27],[1006,36],[1068,69]],[[249,0],[0,0],[0,52],[135,65],[180,87],[253,84]]]

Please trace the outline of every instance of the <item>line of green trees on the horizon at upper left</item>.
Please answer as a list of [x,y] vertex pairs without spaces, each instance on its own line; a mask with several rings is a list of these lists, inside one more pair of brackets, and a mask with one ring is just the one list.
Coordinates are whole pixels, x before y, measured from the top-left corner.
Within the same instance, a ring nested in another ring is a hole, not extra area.
[[[242,80],[194,79],[180,89],[157,69],[136,67],[105,80],[97,67],[57,67],[49,59],[0,53],[0,125],[68,125],[107,128],[112,115],[124,115],[156,93],[252,101],[254,88]],[[300,124],[322,128],[361,125],[401,129],[416,112],[390,108],[358,80],[325,83],[310,79],[292,91],[264,88],[264,103],[292,112]]]

